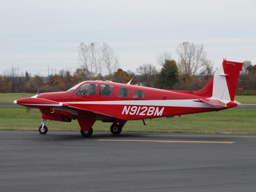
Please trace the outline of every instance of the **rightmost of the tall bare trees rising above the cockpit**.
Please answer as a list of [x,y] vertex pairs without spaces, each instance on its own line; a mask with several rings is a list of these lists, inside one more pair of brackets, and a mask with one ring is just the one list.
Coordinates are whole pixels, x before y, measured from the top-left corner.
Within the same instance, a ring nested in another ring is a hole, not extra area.
[[118,54],[106,43],[103,43],[102,48],[102,62],[108,70],[108,75],[112,80],[114,72],[119,67]]

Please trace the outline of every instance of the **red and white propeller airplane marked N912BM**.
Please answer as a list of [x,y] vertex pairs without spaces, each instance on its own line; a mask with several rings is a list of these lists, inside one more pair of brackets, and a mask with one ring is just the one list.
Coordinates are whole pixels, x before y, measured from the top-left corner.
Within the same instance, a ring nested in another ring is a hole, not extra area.
[[[120,134],[128,120],[219,111],[237,106],[234,100],[242,63],[223,60],[214,76],[199,91],[161,90],[111,81],[84,81],[66,92],[42,93],[14,102],[39,108],[41,134],[47,120],[78,120],[82,136],[92,135],[96,120],[112,122],[112,134]],[[145,123],[144,123],[145,124]]]

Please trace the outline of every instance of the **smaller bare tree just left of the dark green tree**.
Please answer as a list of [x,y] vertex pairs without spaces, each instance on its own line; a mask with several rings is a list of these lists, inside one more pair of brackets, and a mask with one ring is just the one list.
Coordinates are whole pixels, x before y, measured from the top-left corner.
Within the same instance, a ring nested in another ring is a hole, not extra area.
[[157,69],[152,64],[143,64],[139,66],[136,71],[142,75],[144,84],[146,86],[153,86],[154,80],[156,79]]

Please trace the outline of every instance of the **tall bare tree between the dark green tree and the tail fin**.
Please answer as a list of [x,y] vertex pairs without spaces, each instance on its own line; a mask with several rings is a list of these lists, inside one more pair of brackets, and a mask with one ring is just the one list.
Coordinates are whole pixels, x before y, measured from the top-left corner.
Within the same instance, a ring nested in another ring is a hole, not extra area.
[[204,46],[201,44],[183,42],[176,48],[178,58],[179,73],[184,79],[194,76],[198,69],[205,64],[206,52]]

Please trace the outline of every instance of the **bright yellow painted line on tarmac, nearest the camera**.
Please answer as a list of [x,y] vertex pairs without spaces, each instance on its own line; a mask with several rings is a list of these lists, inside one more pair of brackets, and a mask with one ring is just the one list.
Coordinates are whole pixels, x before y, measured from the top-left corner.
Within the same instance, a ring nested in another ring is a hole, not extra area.
[[99,139],[97,141],[139,141],[139,142],[164,142],[164,143],[234,143],[226,141],[162,141],[162,140],[118,140],[118,139]]

